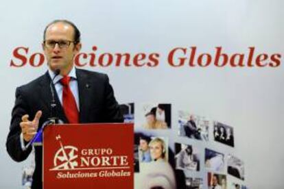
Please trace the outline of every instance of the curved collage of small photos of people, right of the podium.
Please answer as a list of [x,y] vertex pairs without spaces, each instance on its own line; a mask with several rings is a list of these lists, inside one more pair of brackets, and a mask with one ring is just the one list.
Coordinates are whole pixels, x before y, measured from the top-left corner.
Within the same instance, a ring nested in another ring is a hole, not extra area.
[[234,128],[172,108],[121,105],[125,123],[134,123],[134,188],[247,188],[244,162],[233,153]]

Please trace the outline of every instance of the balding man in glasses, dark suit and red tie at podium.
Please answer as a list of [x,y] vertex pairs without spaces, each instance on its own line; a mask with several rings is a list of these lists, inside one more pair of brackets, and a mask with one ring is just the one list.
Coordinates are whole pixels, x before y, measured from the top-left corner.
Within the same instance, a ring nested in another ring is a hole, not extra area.
[[[50,117],[51,82],[56,101],[54,112],[64,123],[123,122],[108,76],[80,70],[73,65],[73,58],[81,47],[80,31],[73,23],[59,20],[45,28],[43,51],[48,71],[29,84],[16,88],[6,142],[7,151],[16,162],[28,157],[32,147],[25,148],[25,144]],[[56,75],[58,70],[60,74]],[[42,155],[42,147],[35,147],[36,168],[32,188],[42,188]]]

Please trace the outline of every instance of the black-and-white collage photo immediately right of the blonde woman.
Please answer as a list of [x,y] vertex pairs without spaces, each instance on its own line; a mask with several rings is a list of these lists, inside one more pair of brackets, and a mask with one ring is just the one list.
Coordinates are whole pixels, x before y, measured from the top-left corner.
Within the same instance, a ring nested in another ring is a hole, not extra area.
[[[180,150],[181,148],[181,150]],[[198,154],[193,153],[191,145],[176,143],[176,168],[199,171],[200,160]]]

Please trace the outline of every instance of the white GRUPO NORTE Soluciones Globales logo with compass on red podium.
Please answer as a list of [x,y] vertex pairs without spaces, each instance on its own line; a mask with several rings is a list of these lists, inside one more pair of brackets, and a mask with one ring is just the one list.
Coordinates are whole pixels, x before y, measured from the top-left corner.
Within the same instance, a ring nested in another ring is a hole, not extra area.
[[[86,177],[130,177],[128,155],[113,152],[113,149],[78,149],[72,145],[63,145],[61,136],[56,136],[60,147],[54,155],[54,171],[57,179],[75,179]],[[52,160],[51,160],[52,161]]]

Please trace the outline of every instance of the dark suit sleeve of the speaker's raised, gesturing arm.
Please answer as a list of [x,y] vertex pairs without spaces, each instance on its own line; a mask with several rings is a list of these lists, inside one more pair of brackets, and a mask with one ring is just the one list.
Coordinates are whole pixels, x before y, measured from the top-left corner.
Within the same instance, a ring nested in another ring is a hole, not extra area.
[[10,131],[6,141],[7,151],[10,157],[12,157],[12,159],[16,162],[21,162],[27,159],[27,156],[32,151],[32,147],[29,147],[25,151],[21,148],[21,117],[25,114],[29,114],[29,107],[23,96],[21,88],[16,88],[16,101],[12,110]]

